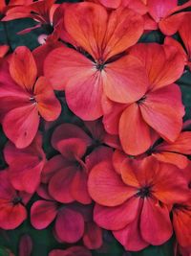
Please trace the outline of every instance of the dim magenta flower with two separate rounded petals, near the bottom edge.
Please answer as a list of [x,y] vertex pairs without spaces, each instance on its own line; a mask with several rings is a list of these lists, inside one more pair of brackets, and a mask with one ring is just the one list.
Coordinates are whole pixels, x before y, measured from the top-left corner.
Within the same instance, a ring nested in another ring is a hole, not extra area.
[[38,189],[41,198],[32,204],[31,222],[36,229],[44,229],[54,220],[55,237],[65,243],[76,243],[84,233],[84,220],[80,213],[68,205],[57,203],[47,192],[46,187]]

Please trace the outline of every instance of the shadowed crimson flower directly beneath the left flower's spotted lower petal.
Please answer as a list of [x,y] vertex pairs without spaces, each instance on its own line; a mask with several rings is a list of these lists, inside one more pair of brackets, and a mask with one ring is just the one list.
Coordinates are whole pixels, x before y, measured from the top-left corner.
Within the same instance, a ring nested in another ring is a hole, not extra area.
[[9,164],[8,175],[12,186],[19,191],[34,193],[40,184],[41,172],[46,161],[42,150],[42,136],[37,133],[32,144],[23,150],[8,142],[4,156]]

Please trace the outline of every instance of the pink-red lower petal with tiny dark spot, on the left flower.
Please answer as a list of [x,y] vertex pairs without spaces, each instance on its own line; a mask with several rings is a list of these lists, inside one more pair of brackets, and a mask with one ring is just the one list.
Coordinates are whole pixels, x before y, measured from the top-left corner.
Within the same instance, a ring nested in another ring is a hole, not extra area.
[[39,116],[35,105],[12,109],[3,120],[7,137],[19,149],[28,147],[36,135]]

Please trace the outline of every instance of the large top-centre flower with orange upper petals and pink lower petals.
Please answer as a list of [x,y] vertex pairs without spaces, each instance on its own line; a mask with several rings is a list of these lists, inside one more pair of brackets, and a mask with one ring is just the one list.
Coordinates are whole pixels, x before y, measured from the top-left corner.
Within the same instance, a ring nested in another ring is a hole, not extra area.
[[65,89],[74,114],[96,120],[103,114],[103,95],[132,103],[145,93],[148,81],[142,64],[137,58],[118,56],[142,35],[143,20],[138,13],[128,8],[107,12],[100,5],[84,2],[69,6],[64,20],[74,47],[91,57],[58,48],[46,58],[44,71],[54,89]]

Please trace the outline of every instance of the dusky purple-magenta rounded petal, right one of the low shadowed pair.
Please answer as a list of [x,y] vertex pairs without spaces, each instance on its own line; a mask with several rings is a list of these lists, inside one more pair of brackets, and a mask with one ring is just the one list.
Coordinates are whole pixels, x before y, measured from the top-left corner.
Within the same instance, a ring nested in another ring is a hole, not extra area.
[[76,243],[82,238],[84,232],[84,221],[81,214],[68,208],[61,209],[55,221],[55,232],[60,241]]

